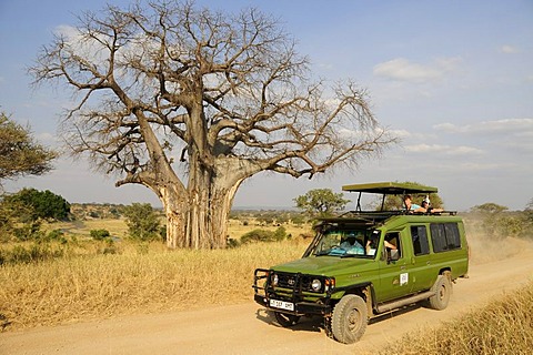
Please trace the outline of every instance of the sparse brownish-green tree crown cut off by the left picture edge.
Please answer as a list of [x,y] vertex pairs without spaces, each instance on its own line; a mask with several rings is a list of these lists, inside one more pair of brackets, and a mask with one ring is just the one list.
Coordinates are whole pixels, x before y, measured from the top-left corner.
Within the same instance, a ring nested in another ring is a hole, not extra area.
[[7,179],[42,175],[52,169],[50,162],[56,156],[33,140],[28,128],[0,112],[0,184]]

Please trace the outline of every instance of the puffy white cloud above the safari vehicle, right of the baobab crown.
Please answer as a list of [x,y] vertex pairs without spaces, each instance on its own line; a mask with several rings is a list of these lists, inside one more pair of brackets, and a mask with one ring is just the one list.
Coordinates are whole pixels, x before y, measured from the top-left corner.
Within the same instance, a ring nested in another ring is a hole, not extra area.
[[455,71],[460,61],[460,58],[441,58],[431,64],[423,65],[404,58],[396,58],[375,65],[373,73],[395,81],[426,83],[440,81],[446,73]]

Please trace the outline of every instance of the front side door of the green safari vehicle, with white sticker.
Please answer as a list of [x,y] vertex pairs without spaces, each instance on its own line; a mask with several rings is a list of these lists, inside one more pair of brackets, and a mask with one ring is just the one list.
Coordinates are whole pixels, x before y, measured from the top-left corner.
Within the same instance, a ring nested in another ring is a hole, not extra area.
[[[380,287],[375,291],[378,302],[398,298],[410,293],[405,243],[400,232],[388,232],[383,239],[380,265]],[[398,253],[398,260],[393,256]]]

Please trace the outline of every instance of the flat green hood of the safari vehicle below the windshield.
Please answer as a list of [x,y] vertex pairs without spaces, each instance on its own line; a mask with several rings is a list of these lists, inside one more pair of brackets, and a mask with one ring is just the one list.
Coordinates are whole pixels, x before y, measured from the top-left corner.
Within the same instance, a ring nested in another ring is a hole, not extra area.
[[[335,276],[344,274],[348,268],[365,271],[371,268],[374,260],[339,257],[339,256],[311,256],[294,260],[285,264],[279,264],[271,268],[286,273],[302,273],[311,275]],[[375,267],[375,266],[374,266]]]

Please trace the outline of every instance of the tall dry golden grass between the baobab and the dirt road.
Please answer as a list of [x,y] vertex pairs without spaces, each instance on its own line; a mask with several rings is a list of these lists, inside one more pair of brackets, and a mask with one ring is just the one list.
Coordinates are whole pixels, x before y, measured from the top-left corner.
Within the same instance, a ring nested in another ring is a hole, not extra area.
[[19,329],[252,300],[253,270],[300,257],[306,242],[231,250],[120,245],[118,254],[0,266],[0,314]]

